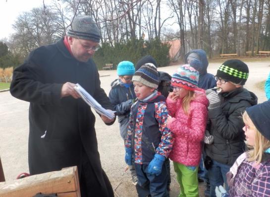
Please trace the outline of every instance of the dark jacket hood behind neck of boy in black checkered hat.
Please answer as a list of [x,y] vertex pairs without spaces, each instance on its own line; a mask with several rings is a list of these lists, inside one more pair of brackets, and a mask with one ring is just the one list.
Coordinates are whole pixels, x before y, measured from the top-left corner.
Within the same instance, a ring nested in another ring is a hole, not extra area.
[[224,98],[230,98],[229,102],[231,103],[238,103],[240,100],[246,100],[252,106],[258,103],[257,96],[243,87],[237,88],[231,92],[224,92],[222,95]]

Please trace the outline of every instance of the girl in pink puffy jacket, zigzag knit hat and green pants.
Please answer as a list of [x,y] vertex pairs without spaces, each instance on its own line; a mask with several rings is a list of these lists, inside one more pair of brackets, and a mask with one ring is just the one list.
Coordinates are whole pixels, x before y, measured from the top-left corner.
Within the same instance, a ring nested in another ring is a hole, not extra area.
[[199,72],[189,65],[179,67],[172,75],[166,105],[167,127],[174,133],[175,142],[169,158],[183,197],[199,197],[198,166],[207,122],[208,99],[198,88]]

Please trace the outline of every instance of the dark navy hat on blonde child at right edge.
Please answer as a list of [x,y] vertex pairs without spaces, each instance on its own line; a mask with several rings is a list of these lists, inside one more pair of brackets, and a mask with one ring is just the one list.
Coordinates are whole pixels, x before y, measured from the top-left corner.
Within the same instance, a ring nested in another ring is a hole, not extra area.
[[246,112],[257,130],[270,140],[270,101],[249,107]]

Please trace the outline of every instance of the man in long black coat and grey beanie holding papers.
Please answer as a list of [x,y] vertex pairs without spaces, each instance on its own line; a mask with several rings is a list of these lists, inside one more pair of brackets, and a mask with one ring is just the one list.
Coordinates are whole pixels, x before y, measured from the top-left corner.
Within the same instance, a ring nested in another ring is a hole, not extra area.
[[[100,31],[90,16],[74,18],[67,36],[34,50],[13,72],[12,96],[30,102],[29,170],[40,174],[77,166],[82,197],[111,197],[102,169],[91,108],[74,90],[79,83],[112,109],[91,57]],[[107,125],[115,121],[101,116]]]

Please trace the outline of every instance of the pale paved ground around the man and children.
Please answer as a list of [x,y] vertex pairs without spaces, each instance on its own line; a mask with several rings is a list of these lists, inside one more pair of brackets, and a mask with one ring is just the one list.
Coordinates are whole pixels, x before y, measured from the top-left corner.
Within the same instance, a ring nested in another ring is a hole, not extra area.
[[[267,78],[270,72],[270,63],[252,62],[247,64],[250,68],[250,75],[245,87],[258,96],[259,102],[263,102],[266,100],[265,93],[256,88],[255,84]],[[219,65],[217,63],[210,64],[209,72],[215,74]],[[158,69],[172,74],[178,66],[167,66]],[[116,71],[102,70],[100,74],[109,74],[109,76],[101,77],[101,85],[108,94],[110,82],[117,77]],[[0,92],[0,157],[7,181],[15,179],[21,172],[28,172],[28,107],[29,103],[13,98],[9,92]],[[115,196],[136,197],[136,191],[131,184],[129,174],[124,172],[126,166],[124,148],[117,121],[112,126],[106,126],[97,117],[96,131],[102,165],[113,189],[115,189]],[[170,196],[177,197],[179,187],[173,170],[171,174]],[[203,194],[203,190],[204,184],[200,184],[200,194]]]

